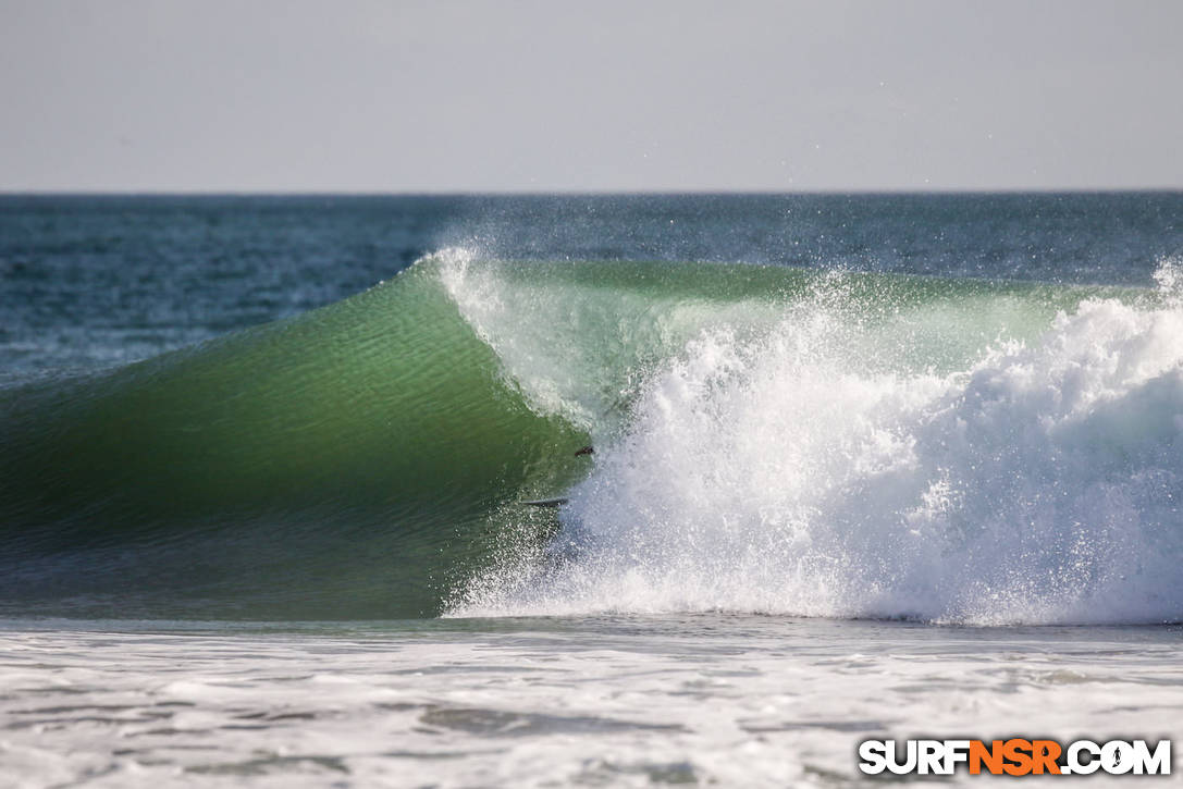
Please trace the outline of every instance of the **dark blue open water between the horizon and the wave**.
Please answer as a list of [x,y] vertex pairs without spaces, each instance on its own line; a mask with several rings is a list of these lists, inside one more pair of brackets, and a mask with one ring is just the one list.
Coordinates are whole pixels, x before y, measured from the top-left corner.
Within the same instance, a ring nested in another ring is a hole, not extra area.
[[1183,193],[0,196],[0,380],[299,313],[448,246],[1149,285]]

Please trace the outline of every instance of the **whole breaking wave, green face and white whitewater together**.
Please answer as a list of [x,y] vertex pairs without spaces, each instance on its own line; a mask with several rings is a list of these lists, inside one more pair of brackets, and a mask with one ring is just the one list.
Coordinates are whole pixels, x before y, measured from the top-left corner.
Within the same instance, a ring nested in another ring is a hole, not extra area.
[[0,606],[1183,619],[1183,306],[1158,279],[444,250],[0,389]]

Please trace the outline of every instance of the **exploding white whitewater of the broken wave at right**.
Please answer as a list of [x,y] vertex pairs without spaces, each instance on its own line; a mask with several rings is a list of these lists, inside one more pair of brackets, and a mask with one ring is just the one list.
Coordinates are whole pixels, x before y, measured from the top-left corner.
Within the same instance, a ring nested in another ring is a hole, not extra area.
[[1183,620],[1174,273],[949,375],[879,363],[899,337],[822,305],[706,331],[597,447],[550,556],[457,610]]

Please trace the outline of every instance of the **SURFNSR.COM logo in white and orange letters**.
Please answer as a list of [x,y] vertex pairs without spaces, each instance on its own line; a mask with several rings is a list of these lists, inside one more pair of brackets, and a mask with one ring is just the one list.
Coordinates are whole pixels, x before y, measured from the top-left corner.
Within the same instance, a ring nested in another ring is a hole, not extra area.
[[1094,743],[1078,739],[867,739],[859,744],[859,769],[867,775],[1170,775],[1171,741],[1151,748],[1144,739]]

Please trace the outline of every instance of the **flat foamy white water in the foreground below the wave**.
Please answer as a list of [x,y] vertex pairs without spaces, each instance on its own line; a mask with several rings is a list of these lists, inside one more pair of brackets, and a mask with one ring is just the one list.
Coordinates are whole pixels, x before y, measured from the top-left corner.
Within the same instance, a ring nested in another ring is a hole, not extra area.
[[848,787],[867,738],[1183,735],[1168,628],[485,623],[269,635],[9,622],[0,784]]

